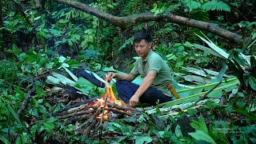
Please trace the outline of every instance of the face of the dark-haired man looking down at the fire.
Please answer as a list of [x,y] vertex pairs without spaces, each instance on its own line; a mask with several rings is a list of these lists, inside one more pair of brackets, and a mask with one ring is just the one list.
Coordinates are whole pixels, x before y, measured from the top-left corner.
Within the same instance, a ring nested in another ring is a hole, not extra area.
[[146,42],[144,39],[140,42],[135,43],[135,50],[138,56],[145,59],[147,54],[149,54],[151,48],[151,44]]

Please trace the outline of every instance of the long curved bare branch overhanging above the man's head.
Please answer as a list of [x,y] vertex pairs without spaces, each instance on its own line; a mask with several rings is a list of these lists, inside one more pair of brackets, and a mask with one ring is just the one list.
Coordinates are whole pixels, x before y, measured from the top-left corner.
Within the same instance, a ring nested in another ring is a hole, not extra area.
[[87,14],[94,15],[95,17],[101,18],[110,22],[114,26],[126,27],[130,25],[134,25],[138,22],[173,22],[183,26],[191,26],[200,30],[208,31],[212,34],[216,34],[221,36],[222,38],[226,38],[232,42],[237,42],[238,44],[244,44],[246,38],[242,38],[241,35],[230,32],[229,30],[222,29],[217,24],[210,22],[202,22],[190,18],[181,17],[174,14],[158,14],[154,16],[153,13],[140,13],[133,14],[126,17],[117,17],[111,14],[107,14],[101,10],[98,10],[94,7],[88,6],[82,2],[76,2],[73,0],[54,0],[56,2],[61,2],[67,6],[74,7],[75,9],[82,10]]

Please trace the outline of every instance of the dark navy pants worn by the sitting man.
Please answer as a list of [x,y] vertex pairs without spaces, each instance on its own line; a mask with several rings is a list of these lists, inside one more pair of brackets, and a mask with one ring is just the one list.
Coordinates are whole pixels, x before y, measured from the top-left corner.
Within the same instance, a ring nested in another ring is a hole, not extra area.
[[[119,94],[119,97],[123,102],[129,104],[130,98],[134,95],[134,93],[138,90],[138,85],[129,81],[118,81],[116,82],[116,88]],[[169,102],[172,101],[172,98],[162,94],[161,90],[158,90],[154,87],[150,87],[148,90],[142,94],[139,98],[139,102],[149,103],[151,105],[156,105],[158,103]]]

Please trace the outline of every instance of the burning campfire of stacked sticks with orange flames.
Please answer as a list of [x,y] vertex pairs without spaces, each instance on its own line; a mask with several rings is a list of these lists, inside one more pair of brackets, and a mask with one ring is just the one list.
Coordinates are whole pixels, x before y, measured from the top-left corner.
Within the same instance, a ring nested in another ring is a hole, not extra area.
[[112,86],[106,82],[106,92],[94,101],[80,102],[53,114],[58,119],[66,119],[67,124],[75,124],[76,134],[93,136],[102,131],[102,126],[106,126],[108,121],[126,118],[134,115],[136,109],[118,100],[114,95]]

